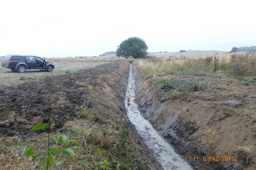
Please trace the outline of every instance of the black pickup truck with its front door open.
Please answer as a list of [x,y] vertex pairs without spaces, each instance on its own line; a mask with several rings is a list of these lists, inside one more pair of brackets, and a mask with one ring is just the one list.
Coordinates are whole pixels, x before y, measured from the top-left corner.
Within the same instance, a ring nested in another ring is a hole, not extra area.
[[55,66],[52,62],[36,56],[7,55],[2,60],[2,67],[24,73],[26,69],[52,72]]

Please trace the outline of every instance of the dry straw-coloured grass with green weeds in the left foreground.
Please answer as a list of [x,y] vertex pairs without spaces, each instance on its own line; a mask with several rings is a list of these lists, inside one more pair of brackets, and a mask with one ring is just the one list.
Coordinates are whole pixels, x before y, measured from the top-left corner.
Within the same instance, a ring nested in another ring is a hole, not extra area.
[[[83,114],[82,112],[78,114]],[[111,169],[116,169],[119,166],[121,169],[129,164],[129,161],[142,163],[141,149],[136,143],[138,137],[127,138],[128,142],[123,142],[120,137],[123,134],[122,129],[117,130],[117,126],[122,126],[112,121],[96,122],[88,118],[67,122],[63,129],[65,132],[51,133],[50,148],[58,149],[59,151],[54,156],[54,161],[63,161],[61,165],[54,165],[50,169],[101,169],[104,166],[103,161],[106,160],[105,165]],[[104,135],[105,132],[105,135]],[[60,135],[65,134],[70,140],[69,145],[58,144],[57,139]],[[40,136],[35,136],[26,142],[22,141],[18,135],[14,137],[7,137],[1,135],[0,138],[0,169],[38,169],[42,163],[42,156],[46,156],[48,150],[48,134],[44,133]],[[132,140],[133,138],[133,140]],[[35,161],[32,157],[28,158],[22,155],[23,149],[29,144],[34,147],[34,155],[41,153]],[[82,152],[75,147],[83,148]],[[63,148],[73,148],[75,152],[74,159],[61,154]],[[99,148],[99,150],[97,150]],[[126,149],[132,150],[127,152]],[[127,155],[130,154],[129,156]],[[132,160],[129,160],[129,159]],[[82,168],[79,168],[82,161],[85,161]],[[119,165],[118,165],[119,164]],[[39,169],[45,168],[45,165]],[[139,169],[139,168],[138,168]],[[147,169],[144,167],[144,169]]]

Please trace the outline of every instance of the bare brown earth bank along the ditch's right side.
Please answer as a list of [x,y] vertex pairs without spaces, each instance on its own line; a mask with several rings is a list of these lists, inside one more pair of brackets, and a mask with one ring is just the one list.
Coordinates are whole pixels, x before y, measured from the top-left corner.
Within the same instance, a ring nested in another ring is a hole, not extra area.
[[[190,161],[195,169],[256,169],[255,87],[227,84],[212,91],[180,93],[161,102],[165,89],[154,86],[156,78],[145,79],[134,70],[136,100],[143,116],[176,152],[184,158],[199,158]],[[203,161],[203,157],[216,156],[234,161]]]

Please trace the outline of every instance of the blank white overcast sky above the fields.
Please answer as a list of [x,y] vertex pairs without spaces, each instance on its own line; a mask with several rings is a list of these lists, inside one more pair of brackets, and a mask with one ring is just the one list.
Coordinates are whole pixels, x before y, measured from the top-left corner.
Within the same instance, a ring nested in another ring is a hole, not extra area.
[[140,37],[148,52],[256,45],[255,0],[0,0],[0,56],[98,56]]

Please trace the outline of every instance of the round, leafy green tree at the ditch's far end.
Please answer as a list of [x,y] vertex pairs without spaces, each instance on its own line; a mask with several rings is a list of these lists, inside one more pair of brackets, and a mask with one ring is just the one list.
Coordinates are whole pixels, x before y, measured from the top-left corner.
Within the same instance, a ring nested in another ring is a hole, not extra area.
[[127,59],[129,56],[134,58],[143,58],[147,55],[148,46],[144,40],[139,37],[130,37],[120,45],[117,45],[117,57],[124,57]]

